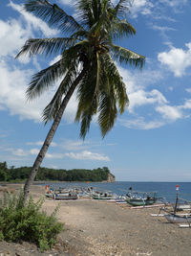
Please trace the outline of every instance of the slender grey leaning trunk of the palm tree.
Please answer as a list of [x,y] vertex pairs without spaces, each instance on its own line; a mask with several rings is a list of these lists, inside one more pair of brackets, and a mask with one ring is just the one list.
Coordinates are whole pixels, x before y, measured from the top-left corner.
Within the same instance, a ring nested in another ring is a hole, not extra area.
[[64,100],[62,101],[62,104],[60,105],[60,108],[54,118],[53,121],[53,125],[50,128],[47,137],[45,139],[45,142],[41,148],[41,150],[39,151],[33,166],[32,166],[32,171],[31,174],[29,175],[29,178],[27,179],[25,186],[24,186],[24,205],[26,205],[27,199],[29,197],[29,193],[30,193],[30,187],[32,185],[32,182],[37,174],[38,168],[40,167],[46,152],[49,149],[49,146],[53,140],[53,136],[55,134],[56,129],[59,126],[59,123],[61,121],[62,115],[64,113],[64,110],[66,108],[66,106],[69,103],[69,100],[71,99],[73,93],[74,93],[74,89],[76,88],[77,84],[79,83],[79,81],[81,81],[81,79],[83,78],[83,76],[85,75],[86,69],[84,68],[81,73],[79,74],[79,76],[75,79],[75,81],[73,82],[72,86],[70,87],[69,91],[67,92]]

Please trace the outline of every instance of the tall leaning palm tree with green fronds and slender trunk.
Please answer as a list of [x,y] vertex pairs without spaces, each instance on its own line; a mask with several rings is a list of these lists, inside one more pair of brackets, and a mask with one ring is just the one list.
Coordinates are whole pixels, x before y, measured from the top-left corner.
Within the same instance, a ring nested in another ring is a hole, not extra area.
[[75,3],[77,19],[47,0],[28,0],[24,5],[27,12],[32,12],[66,36],[29,39],[16,57],[25,54],[30,57],[60,55],[57,62],[32,77],[27,89],[27,97],[32,100],[61,79],[53,100],[43,111],[44,122],[53,120],[53,125],[24,186],[25,202],[75,89],[78,101],[75,121],[81,123],[80,137],[83,139],[94,115],[97,115],[104,137],[113,128],[118,110],[121,114],[128,105],[125,84],[115,61],[141,68],[144,57],[114,43],[124,35],[136,34],[126,20],[127,4],[128,0],[119,0],[117,5],[111,0],[78,0]]

